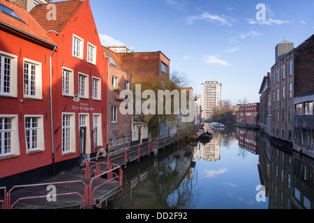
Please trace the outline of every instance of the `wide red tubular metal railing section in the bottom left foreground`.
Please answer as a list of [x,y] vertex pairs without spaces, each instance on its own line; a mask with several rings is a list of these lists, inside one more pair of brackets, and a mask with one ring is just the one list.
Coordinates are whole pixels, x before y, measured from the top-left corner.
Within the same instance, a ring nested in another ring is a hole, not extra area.
[[48,186],[48,185],[61,185],[61,184],[72,184],[72,183],[82,183],[82,185],[84,186],[84,195],[81,194],[80,192],[68,192],[68,193],[62,193],[62,194],[53,194],[53,196],[66,196],[66,195],[73,195],[73,194],[77,194],[78,196],[80,196],[82,198],[83,201],[83,208],[87,207],[87,184],[84,183],[82,180],[73,180],[73,181],[66,181],[66,182],[55,182],[55,183],[39,183],[39,184],[33,184],[33,185],[19,185],[19,186],[14,186],[12,187],[7,194],[7,204],[6,204],[6,208],[8,209],[12,209],[13,206],[15,206],[15,204],[19,201],[22,200],[29,200],[29,199],[39,199],[39,198],[44,198],[47,197],[47,195],[40,195],[40,196],[33,196],[33,197],[20,197],[19,199],[17,199],[12,205],[10,203],[11,197],[10,194],[13,190],[17,189],[17,188],[24,188],[24,187],[40,187],[40,186]]

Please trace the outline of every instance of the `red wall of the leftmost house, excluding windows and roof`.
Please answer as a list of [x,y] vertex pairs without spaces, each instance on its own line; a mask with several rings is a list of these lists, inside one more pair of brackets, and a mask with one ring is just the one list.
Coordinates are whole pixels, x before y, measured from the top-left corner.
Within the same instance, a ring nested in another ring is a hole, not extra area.
[[[50,54],[52,49],[41,47],[28,40],[0,31],[0,50],[17,56],[17,98],[0,96],[0,113],[18,116],[18,138],[20,155],[16,157],[0,157],[0,178],[18,174],[30,169],[43,167],[52,162],[51,134],[50,134]],[[23,59],[31,59],[42,63],[43,100],[24,99],[23,94]],[[22,100],[22,101],[21,101]],[[25,115],[43,115],[45,151],[27,154],[25,144]]]

